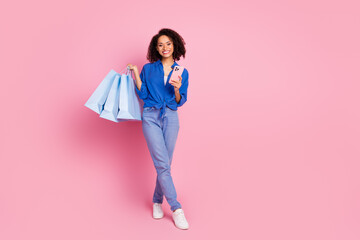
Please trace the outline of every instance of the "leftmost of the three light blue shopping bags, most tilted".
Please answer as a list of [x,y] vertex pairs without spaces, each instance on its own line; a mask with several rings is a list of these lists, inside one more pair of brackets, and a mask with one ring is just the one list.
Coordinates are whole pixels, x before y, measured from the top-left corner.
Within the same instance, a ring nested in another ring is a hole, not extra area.
[[114,70],[110,70],[110,72],[106,75],[91,97],[85,103],[86,107],[90,108],[98,114],[102,112],[116,74],[118,73]]

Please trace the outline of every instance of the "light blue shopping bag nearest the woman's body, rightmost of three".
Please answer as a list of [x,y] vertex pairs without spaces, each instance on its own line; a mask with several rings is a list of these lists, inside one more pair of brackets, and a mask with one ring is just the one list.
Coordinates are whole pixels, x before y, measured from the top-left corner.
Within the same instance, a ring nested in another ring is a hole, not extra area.
[[134,79],[128,69],[121,75],[118,120],[141,121],[139,99],[135,93]]

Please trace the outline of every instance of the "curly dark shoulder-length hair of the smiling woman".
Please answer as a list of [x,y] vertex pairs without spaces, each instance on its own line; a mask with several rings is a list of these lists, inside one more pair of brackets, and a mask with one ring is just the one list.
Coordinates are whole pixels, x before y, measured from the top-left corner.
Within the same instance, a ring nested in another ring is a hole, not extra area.
[[183,56],[185,58],[186,49],[185,49],[184,39],[180,36],[180,34],[178,34],[174,30],[169,29],[169,28],[160,29],[158,34],[156,34],[155,36],[152,37],[146,58],[151,63],[156,62],[157,60],[162,58],[162,56],[156,50],[157,41],[158,41],[159,37],[162,35],[166,35],[173,42],[173,45],[174,45],[173,58],[174,58],[174,60],[179,61],[181,56]]

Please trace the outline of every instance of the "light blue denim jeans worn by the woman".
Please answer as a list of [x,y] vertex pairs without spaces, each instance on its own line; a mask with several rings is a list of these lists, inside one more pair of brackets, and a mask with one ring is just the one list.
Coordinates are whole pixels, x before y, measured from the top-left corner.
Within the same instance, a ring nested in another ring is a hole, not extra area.
[[171,162],[179,128],[177,111],[165,107],[163,115],[160,116],[160,109],[144,108],[142,129],[157,173],[153,203],[162,203],[165,195],[172,211],[181,208],[181,204],[176,200],[176,190],[171,177]]

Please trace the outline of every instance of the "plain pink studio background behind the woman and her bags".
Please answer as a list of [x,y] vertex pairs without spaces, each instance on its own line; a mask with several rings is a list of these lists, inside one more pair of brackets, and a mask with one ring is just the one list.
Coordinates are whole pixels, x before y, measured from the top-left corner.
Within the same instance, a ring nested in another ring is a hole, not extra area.
[[[1,5],[0,239],[360,238],[358,1]],[[163,27],[187,48],[172,165],[187,231],[165,199],[152,219],[141,123],[84,106]]]

